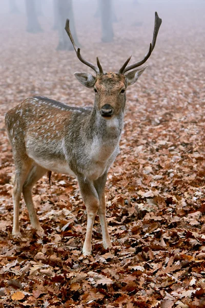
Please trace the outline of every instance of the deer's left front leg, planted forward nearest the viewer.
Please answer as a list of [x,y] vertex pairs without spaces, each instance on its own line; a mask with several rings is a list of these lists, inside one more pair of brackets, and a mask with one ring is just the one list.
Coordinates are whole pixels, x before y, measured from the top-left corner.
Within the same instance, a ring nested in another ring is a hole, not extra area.
[[78,177],[78,183],[80,187],[80,192],[83,197],[83,201],[86,205],[87,209],[87,230],[86,230],[86,239],[83,246],[83,254],[84,256],[88,256],[91,254],[92,245],[92,229],[95,216],[97,214],[97,210],[99,208],[99,199],[97,195],[97,191],[93,185],[93,182],[89,180],[85,180],[85,178]]

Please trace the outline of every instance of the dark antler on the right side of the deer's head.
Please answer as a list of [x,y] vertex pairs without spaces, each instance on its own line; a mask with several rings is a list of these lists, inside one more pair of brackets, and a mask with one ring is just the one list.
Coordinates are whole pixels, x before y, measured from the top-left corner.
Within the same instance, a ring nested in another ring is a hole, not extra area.
[[153,38],[152,38],[152,44],[150,44],[150,48],[149,48],[148,53],[145,55],[144,59],[142,59],[141,61],[136,62],[134,64],[130,64],[130,65],[128,65],[128,62],[131,59],[131,56],[129,56],[128,60],[119,69],[119,71],[118,71],[119,74],[125,74],[127,71],[144,64],[148,60],[148,58],[150,57],[150,55],[151,55],[151,53],[154,49],[154,46],[156,44],[157,34],[158,34],[159,28],[161,26],[161,22],[162,22],[161,18],[159,18],[157,12],[155,12],[154,33],[153,33]]

